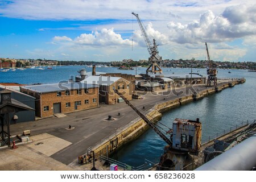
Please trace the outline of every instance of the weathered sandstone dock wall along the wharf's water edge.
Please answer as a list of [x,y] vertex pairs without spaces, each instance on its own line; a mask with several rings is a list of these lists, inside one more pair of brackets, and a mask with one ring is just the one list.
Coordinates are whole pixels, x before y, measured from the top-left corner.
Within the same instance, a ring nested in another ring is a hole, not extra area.
[[[216,92],[220,92],[222,89],[232,87],[236,84],[241,84],[245,82],[244,78],[232,80],[229,82],[222,83],[215,88],[204,89],[200,92],[196,92],[194,94],[189,94],[183,97],[176,98],[171,101],[162,102],[160,104],[156,104],[149,112],[153,119],[153,122],[157,122],[162,118],[162,113],[178,107],[180,105],[187,104],[188,102],[197,101],[203,99],[205,96],[209,94],[213,94]],[[132,140],[138,138],[144,131],[148,129],[148,125],[143,121],[140,117],[134,119],[126,126],[118,129],[114,134],[110,137],[101,140],[101,142],[97,143],[95,146],[89,148],[88,150],[93,150],[97,155],[106,155],[117,150],[119,147],[123,146],[123,144],[131,142]]]

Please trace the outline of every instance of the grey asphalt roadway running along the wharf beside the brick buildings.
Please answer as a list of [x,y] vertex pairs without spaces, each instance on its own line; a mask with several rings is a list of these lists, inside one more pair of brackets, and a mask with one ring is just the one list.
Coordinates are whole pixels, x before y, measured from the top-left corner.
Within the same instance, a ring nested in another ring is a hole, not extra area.
[[[197,89],[201,91],[206,88],[197,85],[193,88],[191,86],[178,88],[176,92],[168,94],[161,92],[147,93],[143,100],[133,100],[131,103],[141,109],[144,106],[146,111],[155,104],[163,102],[164,98],[164,101],[173,100],[184,96],[184,94],[196,92]],[[179,96],[177,96],[177,93],[179,93]],[[121,115],[118,115],[118,113],[121,113]],[[112,115],[115,120],[113,122],[107,121],[108,115]],[[70,146],[51,156],[53,159],[68,165],[77,160],[78,156],[84,154],[87,148],[110,136],[118,128],[125,126],[137,117],[138,115],[125,102],[115,105],[100,104],[98,108],[70,113],[64,118],[52,117],[11,125],[11,135],[20,134],[23,130],[31,130],[32,135],[48,133],[71,142]],[[67,130],[69,125],[75,127],[75,129]]]

